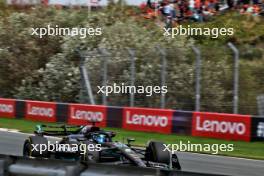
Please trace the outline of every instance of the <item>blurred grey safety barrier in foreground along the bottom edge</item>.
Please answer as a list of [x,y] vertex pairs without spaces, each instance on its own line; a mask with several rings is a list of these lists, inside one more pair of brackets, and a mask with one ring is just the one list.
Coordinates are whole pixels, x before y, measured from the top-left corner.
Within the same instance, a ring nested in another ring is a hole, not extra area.
[[[169,171],[133,166],[84,165],[76,161],[25,159],[0,155],[0,176],[209,176],[183,171]],[[217,176],[217,175],[215,175]],[[220,176],[220,175],[219,175]]]

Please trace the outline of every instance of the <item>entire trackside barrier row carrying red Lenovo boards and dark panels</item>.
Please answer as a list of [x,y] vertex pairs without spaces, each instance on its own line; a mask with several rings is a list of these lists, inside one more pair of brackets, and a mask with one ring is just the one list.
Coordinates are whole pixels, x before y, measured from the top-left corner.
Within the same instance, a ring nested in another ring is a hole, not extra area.
[[226,140],[264,141],[264,118],[250,115],[0,98],[0,117],[72,125],[85,125],[89,124],[89,120],[96,120],[101,127]]

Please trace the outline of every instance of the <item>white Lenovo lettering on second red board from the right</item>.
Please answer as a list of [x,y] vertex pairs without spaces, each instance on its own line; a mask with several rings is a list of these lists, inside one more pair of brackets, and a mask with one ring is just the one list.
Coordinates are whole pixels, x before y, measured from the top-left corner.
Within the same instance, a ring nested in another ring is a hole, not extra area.
[[130,111],[126,111],[126,123],[133,125],[166,127],[168,125],[168,117],[154,115],[130,115]]

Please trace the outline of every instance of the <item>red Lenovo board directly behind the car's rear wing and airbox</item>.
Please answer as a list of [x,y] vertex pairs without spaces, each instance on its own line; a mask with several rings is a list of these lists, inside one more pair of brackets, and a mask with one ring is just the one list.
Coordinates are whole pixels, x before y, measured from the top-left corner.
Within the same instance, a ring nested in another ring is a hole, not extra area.
[[98,122],[96,125],[106,127],[107,108],[105,106],[70,104],[68,123],[72,125],[87,125],[89,121]]

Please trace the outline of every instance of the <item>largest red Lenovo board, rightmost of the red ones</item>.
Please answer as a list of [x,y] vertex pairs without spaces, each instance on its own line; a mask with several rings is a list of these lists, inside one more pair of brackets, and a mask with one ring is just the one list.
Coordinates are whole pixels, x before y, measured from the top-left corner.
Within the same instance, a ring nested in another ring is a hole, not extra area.
[[203,112],[193,113],[193,136],[250,141],[250,133],[250,116]]

